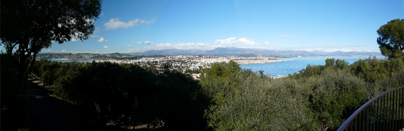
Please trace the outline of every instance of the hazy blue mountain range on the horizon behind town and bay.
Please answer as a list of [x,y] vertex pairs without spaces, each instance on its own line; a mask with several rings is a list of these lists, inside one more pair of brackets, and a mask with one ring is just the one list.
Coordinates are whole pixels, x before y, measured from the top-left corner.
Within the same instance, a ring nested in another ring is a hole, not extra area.
[[335,52],[324,52],[324,51],[304,51],[304,50],[267,50],[261,48],[236,48],[236,47],[219,47],[213,50],[180,50],[180,49],[166,49],[166,50],[148,50],[146,52],[134,52],[134,53],[124,53],[124,54],[160,54],[160,55],[240,55],[240,54],[268,54],[276,56],[382,56],[380,52],[358,52],[358,51],[335,51]]

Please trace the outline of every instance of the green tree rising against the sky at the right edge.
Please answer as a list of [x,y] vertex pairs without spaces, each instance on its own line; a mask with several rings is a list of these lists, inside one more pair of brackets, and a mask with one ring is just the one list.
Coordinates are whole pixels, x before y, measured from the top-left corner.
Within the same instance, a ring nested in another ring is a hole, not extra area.
[[389,58],[404,56],[404,19],[393,19],[377,29],[381,54]]

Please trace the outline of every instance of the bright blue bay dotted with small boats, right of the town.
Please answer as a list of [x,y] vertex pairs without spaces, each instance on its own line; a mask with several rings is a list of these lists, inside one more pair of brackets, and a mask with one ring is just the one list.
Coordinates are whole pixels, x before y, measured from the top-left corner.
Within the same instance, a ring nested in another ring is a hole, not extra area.
[[[285,62],[274,62],[265,64],[242,64],[242,69],[251,69],[251,71],[263,70],[265,75],[288,75],[298,73],[302,69],[306,69],[307,64],[325,65],[327,58],[335,58],[335,60],[345,60],[352,64],[359,59],[365,59],[369,57],[301,57],[301,58],[278,58],[280,60],[293,60]],[[385,57],[378,57],[378,59],[384,59]]]

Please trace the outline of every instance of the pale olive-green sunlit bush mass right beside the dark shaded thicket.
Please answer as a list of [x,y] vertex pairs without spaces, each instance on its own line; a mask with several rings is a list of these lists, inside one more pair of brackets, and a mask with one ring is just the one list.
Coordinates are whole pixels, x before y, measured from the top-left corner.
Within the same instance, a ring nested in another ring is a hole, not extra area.
[[201,81],[212,102],[205,115],[213,129],[276,131],[309,123],[311,113],[304,98],[309,90],[296,80],[271,80],[231,67],[221,70],[238,73],[234,77],[208,75]]

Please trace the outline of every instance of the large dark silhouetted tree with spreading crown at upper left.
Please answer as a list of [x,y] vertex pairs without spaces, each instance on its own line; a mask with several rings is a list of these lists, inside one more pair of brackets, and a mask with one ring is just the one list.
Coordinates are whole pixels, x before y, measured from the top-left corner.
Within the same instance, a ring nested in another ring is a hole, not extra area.
[[43,48],[49,48],[52,41],[62,44],[72,38],[82,41],[88,39],[93,35],[93,21],[98,19],[100,13],[100,0],[1,1],[1,43],[11,50],[17,48],[16,54],[21,60],[30,60],[26,69],[23,69],[24,62],[19,65],[18,81],[24,83],[24,101],[27,75],[36,54]]

